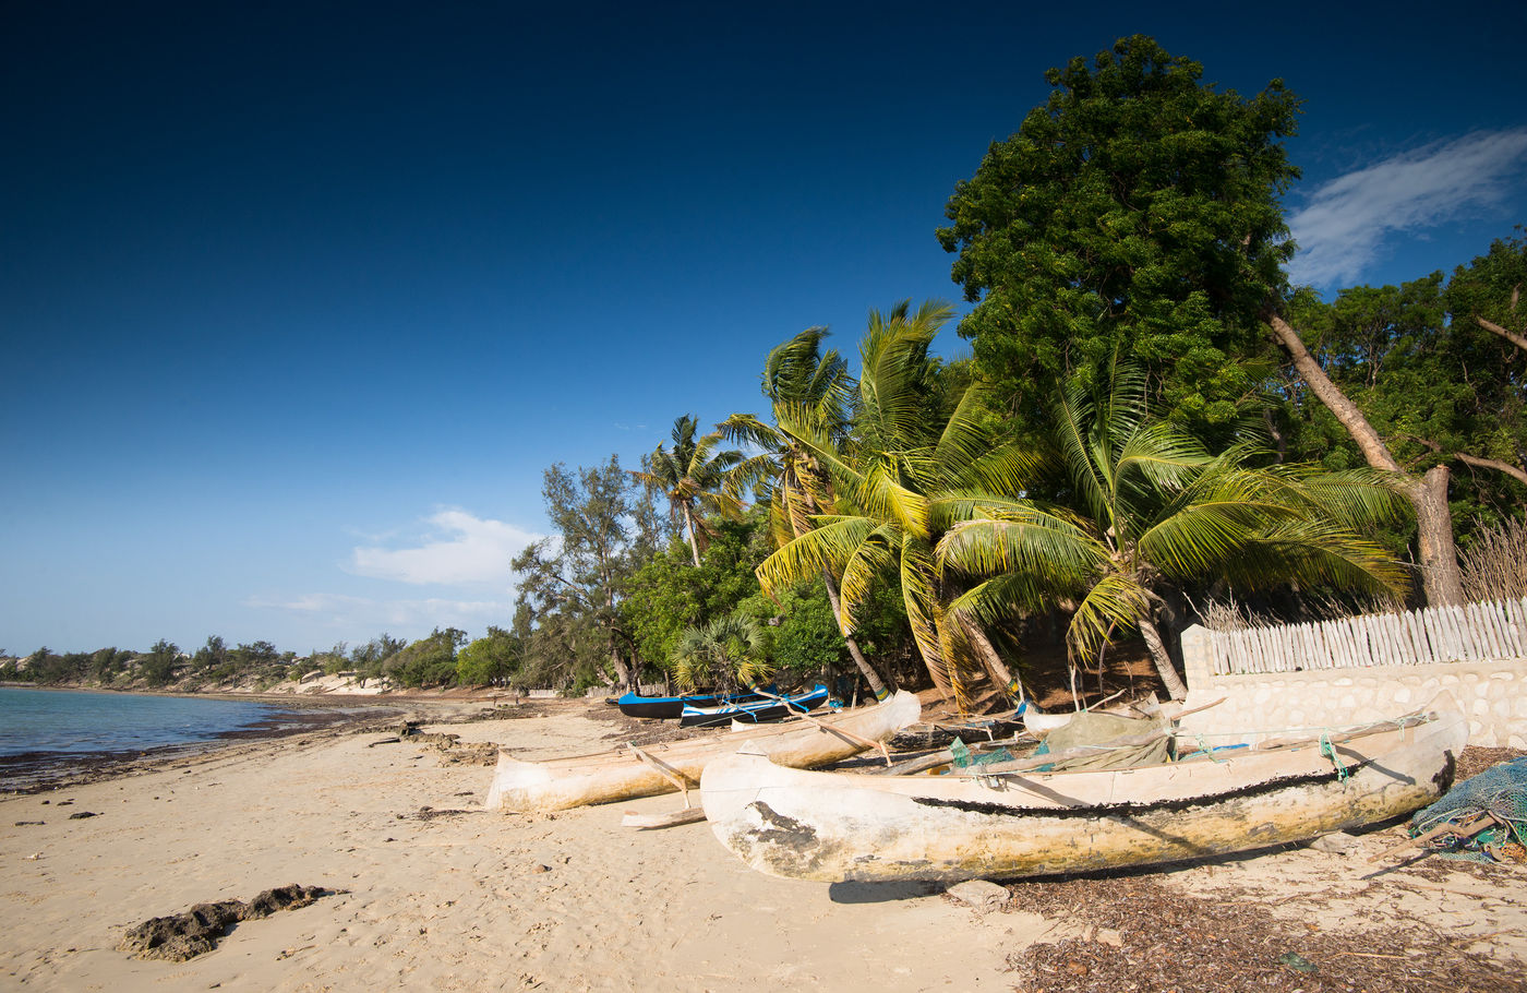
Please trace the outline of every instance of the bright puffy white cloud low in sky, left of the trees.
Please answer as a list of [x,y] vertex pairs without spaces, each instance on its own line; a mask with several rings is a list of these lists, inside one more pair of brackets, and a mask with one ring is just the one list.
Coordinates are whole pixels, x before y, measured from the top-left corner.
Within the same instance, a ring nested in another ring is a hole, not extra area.
[[525,545],[542,536],[513,524],[476,518],[466,510],[441,510],[428,519],[431,533],[414,547],[363,545],[354,550],[350,571],[409,584],[508,587],[508,567]]

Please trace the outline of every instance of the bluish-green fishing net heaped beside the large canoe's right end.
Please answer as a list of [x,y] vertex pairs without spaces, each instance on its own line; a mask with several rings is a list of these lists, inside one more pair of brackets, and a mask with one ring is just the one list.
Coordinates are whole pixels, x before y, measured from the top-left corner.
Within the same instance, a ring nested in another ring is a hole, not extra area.
[[1411,817],[1411,837],[1428,831],[1435,833],[1426,840],[1428,848],[1474,862],[1500,862],[1504,845],[1527,845],[1527,758],[1464,779],[1417,811]]

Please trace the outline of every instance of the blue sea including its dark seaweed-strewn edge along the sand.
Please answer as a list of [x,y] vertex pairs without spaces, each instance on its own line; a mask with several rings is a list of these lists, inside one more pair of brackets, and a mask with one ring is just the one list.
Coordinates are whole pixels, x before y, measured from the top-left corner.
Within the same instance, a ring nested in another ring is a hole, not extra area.
[[145,755],[308,730],[342,716],[253,700],[0,686],[0,790],[41,788]]

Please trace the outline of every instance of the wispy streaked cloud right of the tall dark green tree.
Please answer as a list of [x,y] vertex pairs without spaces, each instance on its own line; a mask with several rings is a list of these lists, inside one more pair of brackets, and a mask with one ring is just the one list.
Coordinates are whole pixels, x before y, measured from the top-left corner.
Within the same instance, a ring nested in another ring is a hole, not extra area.
[[1289,217],[1298,284],[1354,283],[1385,238],[1500,203],[1524,171],[1527,128],[1477,131],[1348,173]]

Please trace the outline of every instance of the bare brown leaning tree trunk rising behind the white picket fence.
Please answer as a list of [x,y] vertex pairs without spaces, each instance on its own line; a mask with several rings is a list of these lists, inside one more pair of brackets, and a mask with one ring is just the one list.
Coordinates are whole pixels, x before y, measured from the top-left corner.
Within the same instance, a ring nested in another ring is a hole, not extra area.
[[[1388,446],[1356,403],[1333,383],[1299,339],[1299,333],[1278,315],[1269,319],[1278,342],[1293,359],[1293,368],[1351,435],[1364,458],[1374,469],[1403,472]],[[1448,466],[1437,466],[1422,480],[1406,477],[1405,495],[1416,509],[1416,544],[1422,556],[1422,590],[1428,606],[1463,603],[1463,581],[1458,576],[1458,553],[1452,541],[1452,516],[1448,513]]]

